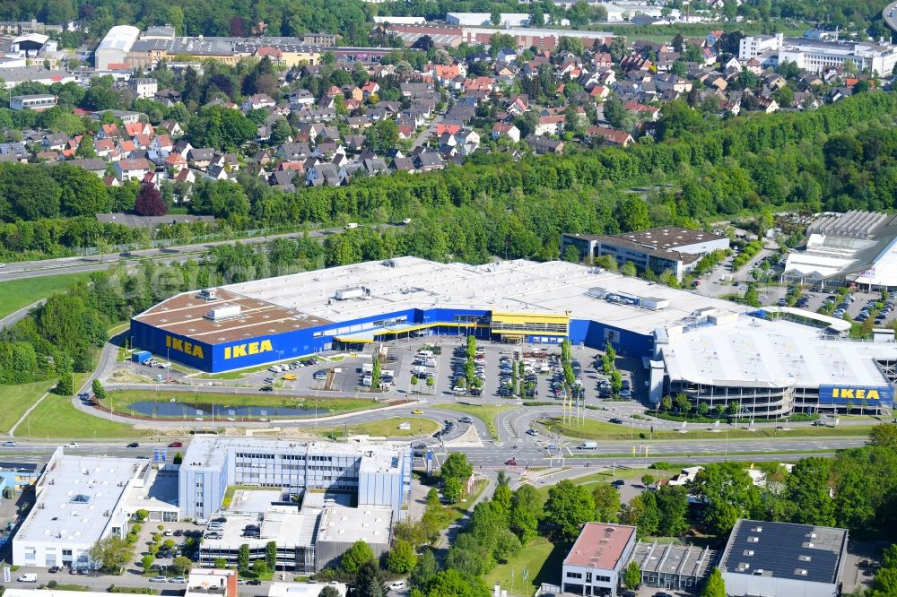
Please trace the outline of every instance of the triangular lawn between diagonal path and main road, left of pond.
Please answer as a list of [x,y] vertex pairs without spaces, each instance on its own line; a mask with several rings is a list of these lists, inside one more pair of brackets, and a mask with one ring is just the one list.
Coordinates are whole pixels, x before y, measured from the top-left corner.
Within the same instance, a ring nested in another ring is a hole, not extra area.
[[93,437],[141,437],[149,434],[149,431],[135,429],[125,423],[78,411],[72,405],[71,396],[57,396],[56,394],[49,394],[16,429],[16,435],[19,437],[35,438],[92,439]]

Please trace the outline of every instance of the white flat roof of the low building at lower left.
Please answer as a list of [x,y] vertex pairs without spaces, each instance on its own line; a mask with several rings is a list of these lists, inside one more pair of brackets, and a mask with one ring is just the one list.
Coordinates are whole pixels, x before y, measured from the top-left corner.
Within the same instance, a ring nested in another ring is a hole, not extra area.
[[130,481],[150,461],[137,458],[58,455],[47,465],[37,502],[14,541],[92,544]]

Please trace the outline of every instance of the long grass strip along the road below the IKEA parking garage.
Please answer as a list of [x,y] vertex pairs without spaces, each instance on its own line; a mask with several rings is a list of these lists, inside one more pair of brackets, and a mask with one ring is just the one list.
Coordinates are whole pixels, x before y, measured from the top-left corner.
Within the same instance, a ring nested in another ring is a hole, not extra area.
[[[601,420],[586,419],[581,425],[563,424],[560,418],[552,417],[542,422],[553,433],[561,432],[567,437],[579,437],[581,439],[708,439],[719,438],[726,435],[725,429],[711,431],[705,425],[695,425],[688,429],[687,433],[678,431],[655,431],[650,434],[645,428],[629,428],[624,425],[614,425]],[[728,428],[729,439],[749,437],[866,437],[869,435],[871,425],[845,425],[843,427],[792,427],[790,431],[772,428],[756,428],[751,431],[747,428]]]

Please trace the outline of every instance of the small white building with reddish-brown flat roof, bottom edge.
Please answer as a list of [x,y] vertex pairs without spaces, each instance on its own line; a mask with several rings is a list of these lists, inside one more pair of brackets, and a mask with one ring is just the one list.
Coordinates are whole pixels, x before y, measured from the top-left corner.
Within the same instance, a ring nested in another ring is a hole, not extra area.
[[563,560],[562,593],[616,597],[633,549],[634,526],[585,523]]

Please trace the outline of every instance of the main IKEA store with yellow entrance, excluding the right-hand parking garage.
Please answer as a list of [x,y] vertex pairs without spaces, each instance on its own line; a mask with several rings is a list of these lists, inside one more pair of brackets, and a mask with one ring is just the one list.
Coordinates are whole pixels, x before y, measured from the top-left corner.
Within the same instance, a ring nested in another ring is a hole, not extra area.
[[658,327],[702,308],[744,310],[579,264],[400,257],[185,292],[135,316],[131,336],[135,347],[212,372],[428,335],[612,342],[620,354],[642,358]]

